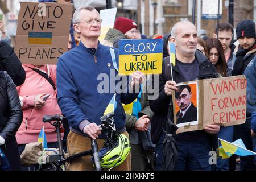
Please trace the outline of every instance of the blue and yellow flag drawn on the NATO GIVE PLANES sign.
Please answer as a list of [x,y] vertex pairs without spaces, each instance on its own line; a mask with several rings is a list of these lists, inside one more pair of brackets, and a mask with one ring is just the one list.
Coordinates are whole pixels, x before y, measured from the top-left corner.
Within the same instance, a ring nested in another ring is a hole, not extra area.
[[28,32],[28,44],[52,44],[52,32]]

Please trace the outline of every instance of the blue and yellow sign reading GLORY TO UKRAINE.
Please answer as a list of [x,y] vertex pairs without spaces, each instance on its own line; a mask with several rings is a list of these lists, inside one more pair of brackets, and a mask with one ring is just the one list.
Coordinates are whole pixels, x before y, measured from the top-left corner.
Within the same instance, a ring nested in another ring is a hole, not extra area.
[[119,75],[162,73],[163,40],[119,40]]

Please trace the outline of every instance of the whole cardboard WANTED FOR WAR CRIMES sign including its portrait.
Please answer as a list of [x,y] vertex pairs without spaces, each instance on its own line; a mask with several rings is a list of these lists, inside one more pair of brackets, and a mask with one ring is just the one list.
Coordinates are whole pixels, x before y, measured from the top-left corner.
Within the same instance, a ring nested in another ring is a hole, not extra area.
[[[193,84],[196,84],[196,89],[189,90],[184,86],[188,85],[192,88]],[[209,124],[232,126],[245,123],[246,77],[244,75],[184,82],[178,85],[183,86],[182,90],[178,89],[172,94],[174,123],[179,127],[176,133],[203,130]],[[191,106],[196,107],[196,112],[195,108],[193,112],[191,111]],[[180,110],[183,111],[182,115],[179,115]]]

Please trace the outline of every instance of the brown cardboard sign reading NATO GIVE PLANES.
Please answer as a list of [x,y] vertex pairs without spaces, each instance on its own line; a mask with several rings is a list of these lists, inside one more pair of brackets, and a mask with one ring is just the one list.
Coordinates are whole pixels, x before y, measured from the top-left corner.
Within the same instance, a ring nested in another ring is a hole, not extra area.
[[20,2],[14,51],[22,63],[56,64],[67,51],[72,4]]

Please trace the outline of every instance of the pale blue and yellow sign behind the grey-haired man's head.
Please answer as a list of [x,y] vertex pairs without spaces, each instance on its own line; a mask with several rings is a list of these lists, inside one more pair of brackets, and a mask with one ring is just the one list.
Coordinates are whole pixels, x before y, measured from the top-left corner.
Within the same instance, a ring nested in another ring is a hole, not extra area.
[[100,10],[100,17],[102,19],[101,24],[101,35],[98,38],[100,42],[104,40],[106,33],[108,32],[109,28],[114,27],[115,23],[115,15],[117,14],[117,8],[110,8],[105,10]]

